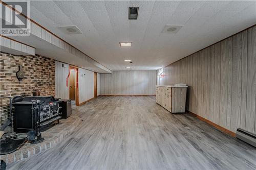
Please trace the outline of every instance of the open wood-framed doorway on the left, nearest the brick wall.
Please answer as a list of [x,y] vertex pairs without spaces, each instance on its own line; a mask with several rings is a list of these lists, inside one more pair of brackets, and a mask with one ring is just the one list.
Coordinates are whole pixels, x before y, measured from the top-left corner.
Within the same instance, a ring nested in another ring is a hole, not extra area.
[[69,99],[78,106],[78,68],[69,66]]

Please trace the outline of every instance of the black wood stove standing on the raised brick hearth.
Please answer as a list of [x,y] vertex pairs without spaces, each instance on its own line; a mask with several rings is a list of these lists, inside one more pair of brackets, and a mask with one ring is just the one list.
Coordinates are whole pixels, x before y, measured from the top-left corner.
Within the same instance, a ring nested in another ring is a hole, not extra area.
[[16,96],[12,100],[14,106],[14,131],[31,132],[35,136],[44,128],[61,119],[59,113],[59,101],[53,96]]

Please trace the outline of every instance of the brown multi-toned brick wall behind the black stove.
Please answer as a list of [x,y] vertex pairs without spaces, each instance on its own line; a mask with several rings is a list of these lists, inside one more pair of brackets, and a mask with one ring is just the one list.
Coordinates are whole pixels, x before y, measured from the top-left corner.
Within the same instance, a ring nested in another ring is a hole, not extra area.
[[[25,78],[16,78],[18,65],[23,66]],[[55,61],[41,56],[13,56],[0,53],[0,95],[32,95],[38,86],[41,95],[55,95]],[[8,118],[9,99],[0,98],[0,119]]]

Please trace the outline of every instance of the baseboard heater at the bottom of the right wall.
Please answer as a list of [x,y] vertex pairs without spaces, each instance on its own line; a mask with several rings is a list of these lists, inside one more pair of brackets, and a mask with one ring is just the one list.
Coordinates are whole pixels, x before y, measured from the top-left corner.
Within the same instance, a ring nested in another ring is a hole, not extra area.
[[253,147],[256,147],[256,135],[250,132],[247,132],[243,129],[238,128],[237,138],[243,140],[246,143],[249,143],[250,145],[253,145]]

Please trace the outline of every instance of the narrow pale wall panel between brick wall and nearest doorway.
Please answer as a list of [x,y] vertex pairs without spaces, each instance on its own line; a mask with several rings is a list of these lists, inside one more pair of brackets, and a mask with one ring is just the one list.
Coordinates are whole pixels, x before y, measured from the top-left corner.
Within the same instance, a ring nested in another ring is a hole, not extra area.
[[[64,67],[62,67],[62,64]],[[67,77],[69,75],[69,64],[55,61],[55,97],[69,99],[69,86]]]

